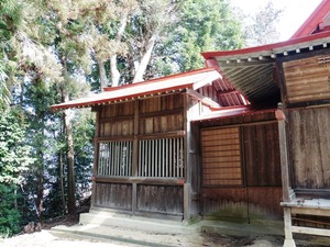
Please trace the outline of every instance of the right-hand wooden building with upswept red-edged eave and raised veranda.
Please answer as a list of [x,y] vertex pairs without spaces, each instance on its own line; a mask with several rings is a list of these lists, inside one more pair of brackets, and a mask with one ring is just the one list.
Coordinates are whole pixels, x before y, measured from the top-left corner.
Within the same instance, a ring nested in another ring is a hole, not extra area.
[[330,236],[329,11],[330,2],[322,1],[287,42],[202,54],[252,108],[278,103],[277,133],[271,131],[266,145],[279,144],[285,247],[296,246],[293,233]]

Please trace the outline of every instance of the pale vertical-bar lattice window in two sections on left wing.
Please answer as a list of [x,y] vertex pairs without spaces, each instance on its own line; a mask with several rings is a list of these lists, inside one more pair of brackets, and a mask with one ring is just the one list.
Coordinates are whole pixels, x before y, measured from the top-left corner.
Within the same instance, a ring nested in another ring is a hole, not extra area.
[[[100,142],[98,175],[132,176],[132,155],[133,141]],[[139,141],[138,177],[183,178],[184,168],[184,137]]]

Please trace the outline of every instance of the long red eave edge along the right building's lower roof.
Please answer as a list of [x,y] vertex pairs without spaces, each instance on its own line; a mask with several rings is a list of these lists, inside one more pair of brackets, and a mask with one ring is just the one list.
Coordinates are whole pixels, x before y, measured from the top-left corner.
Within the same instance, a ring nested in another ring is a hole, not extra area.
[[249,47],[249,48],[243,48],[243,49],[205,52],[205,53],[201,53],[201,55],[204,56],[205,59],[210,59],[213,57],[243,55],[243,54],[260,53],[260,52],[265,52],[265,50],[271,52],[275,48],[280,48],[280,47],[290,46],[290,45],[297,45],[300,43],[311,42],[311,41],[316,41],[316,40],[323,38],[323,37],[330,37],[330,32],[327,31],[327,32],[322,32],[322,33],[318,33],[318,34],[312,34],[310,36],[298,37],[298,38],[288,40],[285,42],[262,45],[262,46],[255,46],[255,47]]

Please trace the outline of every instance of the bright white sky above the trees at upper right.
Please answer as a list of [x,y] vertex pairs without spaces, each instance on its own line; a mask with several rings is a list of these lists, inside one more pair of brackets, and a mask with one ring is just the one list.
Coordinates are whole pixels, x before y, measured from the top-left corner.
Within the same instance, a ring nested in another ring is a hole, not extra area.
[[[246,14],[261,10],[270,0],[231,0]],[[279,41],[287,41],[307,20],[322,0],[272,0],[276,9],[283,9],[278,23]]]

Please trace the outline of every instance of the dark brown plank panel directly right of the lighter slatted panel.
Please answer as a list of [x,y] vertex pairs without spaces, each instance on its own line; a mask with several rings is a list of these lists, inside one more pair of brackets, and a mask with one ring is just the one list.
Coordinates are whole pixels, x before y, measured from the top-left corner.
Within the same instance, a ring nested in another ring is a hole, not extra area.
[[279,186],[280,156],[276,123],[243,127],[246,186]]

